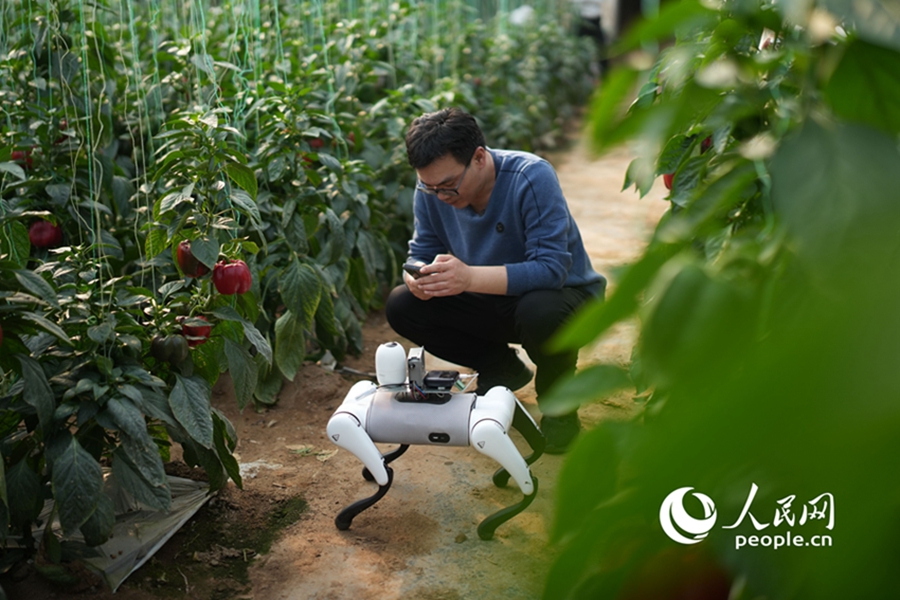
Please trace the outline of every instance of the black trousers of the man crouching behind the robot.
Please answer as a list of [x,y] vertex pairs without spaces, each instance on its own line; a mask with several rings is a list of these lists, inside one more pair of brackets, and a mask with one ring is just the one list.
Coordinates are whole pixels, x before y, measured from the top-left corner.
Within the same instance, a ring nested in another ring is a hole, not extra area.
[[547,340],[592,297],[584,288],[563,288],[522,296],[464,293],[419,300],[399,285],[388,297],[385,312],[398,334],[435,356],[481,373],[514,364],[509,344],[522,344],[537,366],[534,386],[540,397],[557,379],[574,373],[578,360],[577,351],[549,353]]

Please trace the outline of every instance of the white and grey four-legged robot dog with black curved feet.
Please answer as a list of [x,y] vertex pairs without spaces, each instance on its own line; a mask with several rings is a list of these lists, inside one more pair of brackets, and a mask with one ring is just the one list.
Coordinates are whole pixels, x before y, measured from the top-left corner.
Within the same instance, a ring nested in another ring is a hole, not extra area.
[[[452,393],[459,380],[457,371],[426,371],[424,350],[389,342],[375,353],[378,384],[359,381],[328,421],[328,437],[356,456],[365,466],[363,477],[378,484],[369,498],[350,504],[335,517],[340,530],[350,528],[354,517],[373,506],[388,492],[394,472],[389,463],[410,445],[472,446],[500,463],[493,482],[505,487],[509,478],[518,484],[524,498],[486,517],[478,526],[478,537],[489,540],[494,531],[534,500],[538,480],[529,465],[544,451],[546,441],[531,415],[505,387],[493,387],[485,395]],[[531,448],[523,458],[509,437],[515,428]],[[384,455],[375,443],[400,444]]]

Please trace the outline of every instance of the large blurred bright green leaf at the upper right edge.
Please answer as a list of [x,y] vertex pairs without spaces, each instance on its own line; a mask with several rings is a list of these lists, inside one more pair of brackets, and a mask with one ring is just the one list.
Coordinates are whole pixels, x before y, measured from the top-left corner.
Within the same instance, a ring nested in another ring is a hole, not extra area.
[[900,52],[854,40],[823,92],[838,116],[900,133]]

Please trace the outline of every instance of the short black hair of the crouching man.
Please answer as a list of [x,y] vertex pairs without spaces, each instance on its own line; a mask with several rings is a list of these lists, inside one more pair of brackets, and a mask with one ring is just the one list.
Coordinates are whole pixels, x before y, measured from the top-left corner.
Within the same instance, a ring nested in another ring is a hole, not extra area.
[[406,132],[406,154],[413,169],[427,167],[447,154],[468,165],[475,150],[484,145],[475,117],[455,107],[417,117]]

